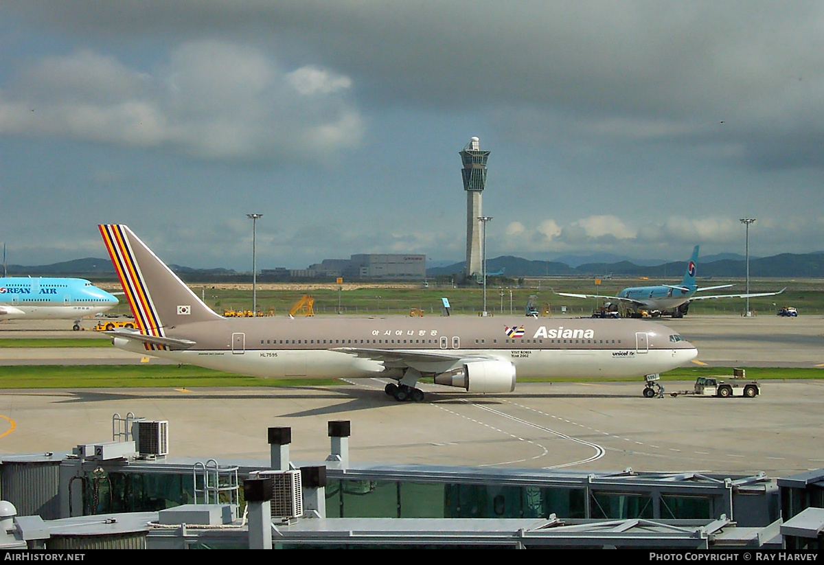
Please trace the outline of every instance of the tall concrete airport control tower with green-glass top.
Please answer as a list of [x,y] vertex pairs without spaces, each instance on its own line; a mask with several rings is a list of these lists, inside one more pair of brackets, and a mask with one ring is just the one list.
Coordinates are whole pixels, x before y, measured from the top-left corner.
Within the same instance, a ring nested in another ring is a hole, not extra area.
[[461,151],[463,170],[461,174],[466,190],[466,278],[475,274],[483,276],[481,257],[481,232],[478,218],[483,216],[481,211],[481,193],[486,184],[486,160],[488,151],[480,150],[478,138],[471,138],[470,142]]

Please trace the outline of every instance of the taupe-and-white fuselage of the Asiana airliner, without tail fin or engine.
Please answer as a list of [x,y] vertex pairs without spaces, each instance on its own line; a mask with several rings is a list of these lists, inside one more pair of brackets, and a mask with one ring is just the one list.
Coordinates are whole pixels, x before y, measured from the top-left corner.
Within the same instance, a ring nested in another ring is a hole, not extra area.
[[[115,337],[120,348],[221,371],[275,378],[380,376],[393,355],[422,358],[421,373],[454,370],[461,360],[511,362],[518,378],[643,376],[690,362],[695,346],[677,332],[638,320],[431,319],[216,320],[168,328],[191,348],[169,350]],[[520,320],[519,320],[520,321]],[[371,358],[355,351],[368,351]],[[438,358],[438,356],[443,356]],[[408,360],[405,364],[409,364]]]

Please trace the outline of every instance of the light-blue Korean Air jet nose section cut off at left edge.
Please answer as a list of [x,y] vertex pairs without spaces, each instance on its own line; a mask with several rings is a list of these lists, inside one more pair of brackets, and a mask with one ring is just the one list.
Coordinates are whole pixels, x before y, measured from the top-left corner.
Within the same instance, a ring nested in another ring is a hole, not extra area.
[[118,298],[84,278],[0,278],[0,320],[74,320],[112,308]]

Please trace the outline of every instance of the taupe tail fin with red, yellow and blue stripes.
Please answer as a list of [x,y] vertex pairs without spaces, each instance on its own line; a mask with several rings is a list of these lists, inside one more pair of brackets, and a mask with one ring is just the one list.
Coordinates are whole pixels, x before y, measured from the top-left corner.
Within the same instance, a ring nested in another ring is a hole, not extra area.
[[128,226],[98,228],[141,333],[164,337],[171,326],[221,319]]

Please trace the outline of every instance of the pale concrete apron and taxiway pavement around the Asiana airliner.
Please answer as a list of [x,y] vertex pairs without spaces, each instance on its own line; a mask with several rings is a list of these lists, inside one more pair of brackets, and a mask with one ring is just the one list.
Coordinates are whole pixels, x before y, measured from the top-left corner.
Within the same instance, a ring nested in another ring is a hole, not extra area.
[[[824,319],[818,316],[687,316],[663,323],[695,343],[698,360],[710,365],[824,364]],[[0,338],[16,334],[12,327],[2,325]],[[64,332],[40,328],[26,337],[32,334]],[[91,332],[65,334],[82,339]],[[97,349],[55,351],[0,349],[0,363],[99,357]],[[100,348],[104,352],[115,358],[102,362],[139,362]],[[322,460],[329,451],[326,422],[348,419],[353,461],[773,476],[824,467],[824,380],[765,381],[756,399],[644,399],[640,380],[521,383],[508,395],[461,395],[423,385],[430,392],[423,404],[396,403],[382,388],[382,381],[366,380],[265,390],[6,390],[0,395],[0,452],[108,441],[112,414],[133,412],[170,421],[172,455],[204,459],[268,459],[266,428],[290,426],[292,458]]]

